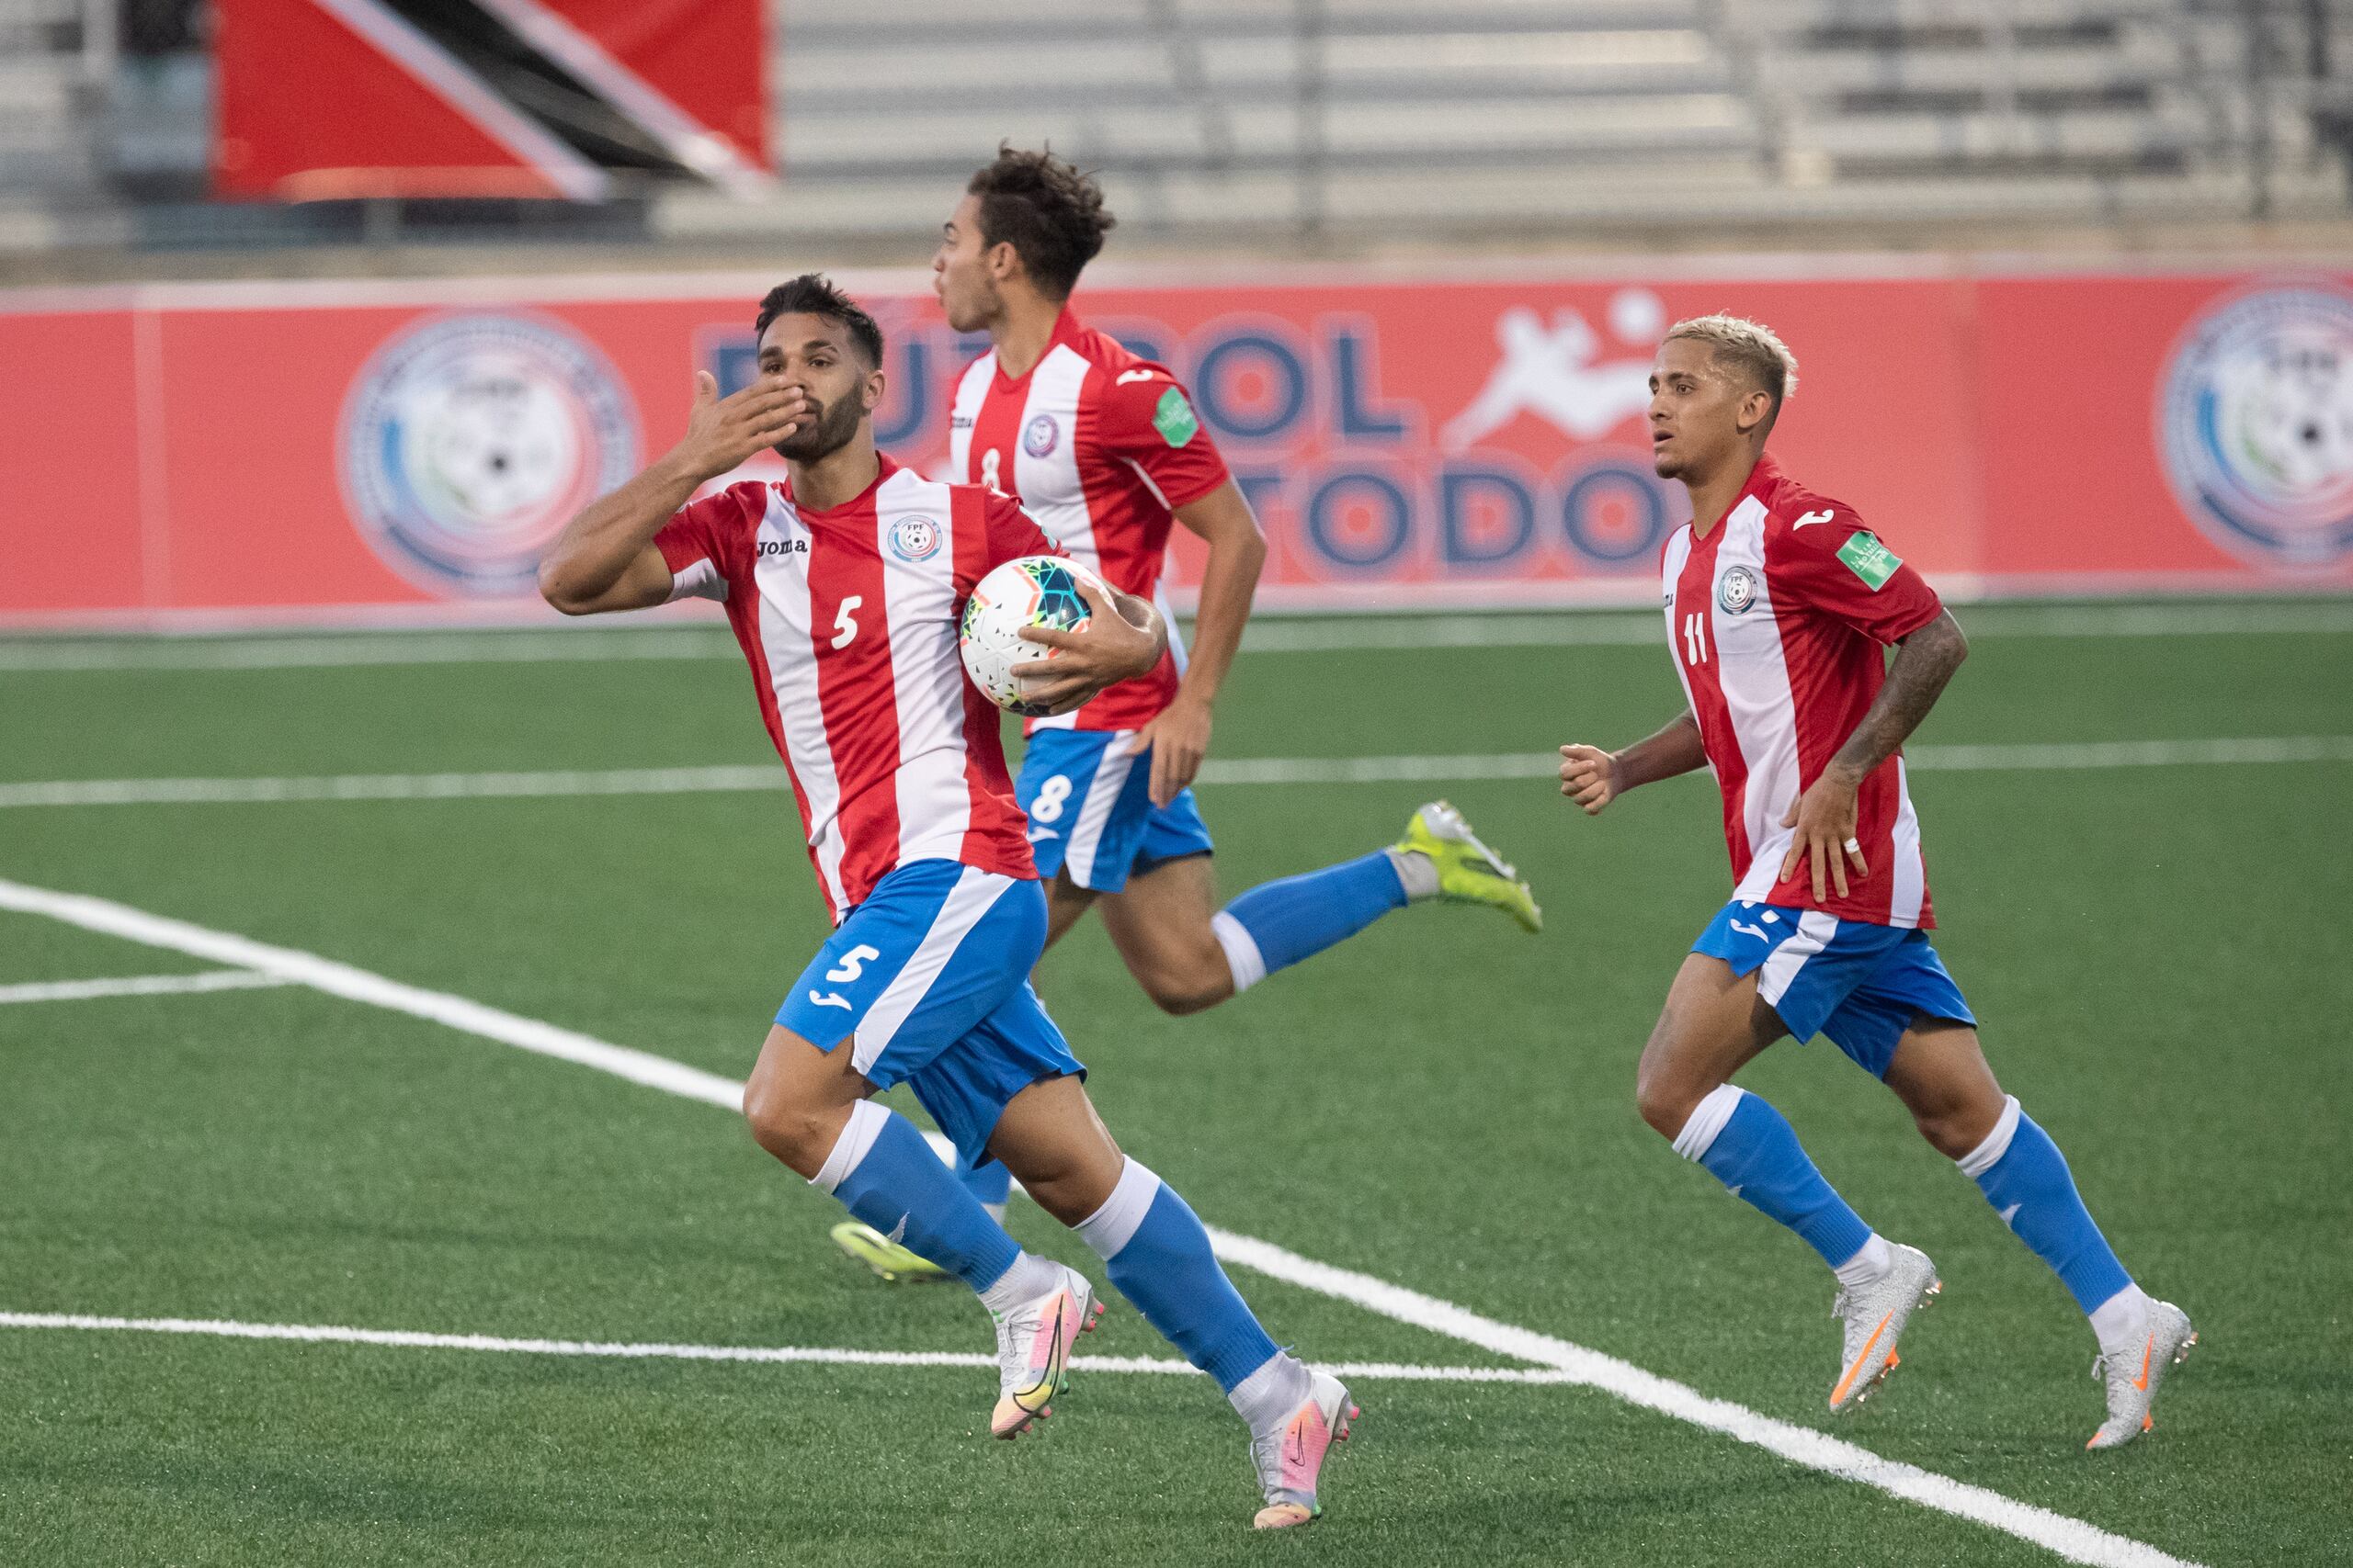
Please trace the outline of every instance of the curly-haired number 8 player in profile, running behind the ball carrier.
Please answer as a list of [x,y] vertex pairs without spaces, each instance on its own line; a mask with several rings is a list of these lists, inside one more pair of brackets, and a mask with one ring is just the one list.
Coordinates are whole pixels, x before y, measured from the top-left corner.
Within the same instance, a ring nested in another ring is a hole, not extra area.
[[[1016,795],[1049,882],[1047,945],[1099,907],[1144,992],[1169,1013],[1198,1013],[1424,898],[1494,905],[1537,931],[1527,882],[1447,802],[1421,806],[1388,849],[1219,907],[1191,783],[1266,541],[1186,388],[1068,306],[1111,226],[1089,176],[1052,153],[1000,148],[932,256],[948,324],[991,341],[955,383],[948,473],[1012,496],[1106,583],[1162,609],[1172,524],[1209,545],[1191,658],[1172,639],[1146,675],[1028,726]],[[967,1175],[1002,1213],[1005,1171]],[[835,1241],[885,1279],[927,1272],[856,1225],[835,1227]]]

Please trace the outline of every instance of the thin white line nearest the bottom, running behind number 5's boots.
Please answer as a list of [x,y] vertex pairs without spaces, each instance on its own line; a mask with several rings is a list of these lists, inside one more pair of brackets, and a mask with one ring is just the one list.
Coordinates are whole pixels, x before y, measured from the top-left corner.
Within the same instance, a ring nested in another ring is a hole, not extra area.
[[[89,1328],[101,1333],[191,1333],[219,1340],[296,1340],[304,1345],[386,1345],[395,1349],[485,1349],[522,1356],[609,1356],[616,1361],[751,1361],[762,1366],[972,1366],[995,1368],[976,1349],[828,1349],[821,1345],[647,1345],[612,1340],[511,1340],[489,1333],[416,1333],[412,1328],[336,1328],[329,1324],[235,1324],[191,1316],[89,1316],[82,1312],[0,1312],[0,1328]],[[1167,1356],[1071,1356],[1082,1373],[1200,1371]],[[1339,1361],[1322,1371],[1351,1382],[1569,1382],[1548,1366],[1412,1366]]]

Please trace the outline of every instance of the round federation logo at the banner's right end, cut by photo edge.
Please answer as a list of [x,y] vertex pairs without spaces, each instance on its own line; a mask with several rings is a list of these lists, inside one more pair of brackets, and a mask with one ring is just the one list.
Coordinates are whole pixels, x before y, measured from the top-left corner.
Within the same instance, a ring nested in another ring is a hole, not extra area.
[[2158,451],[2181,510],[2233,555],[2353,552],[2353,294],[2275,287],[2195,317],[2158,383]]

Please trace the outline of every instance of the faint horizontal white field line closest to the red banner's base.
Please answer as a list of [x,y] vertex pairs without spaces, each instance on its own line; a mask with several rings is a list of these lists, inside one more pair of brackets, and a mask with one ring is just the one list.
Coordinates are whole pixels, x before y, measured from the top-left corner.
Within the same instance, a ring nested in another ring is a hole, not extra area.
[[[2353,602],[2257,604],[1981,604],[1962,607],[1972,637],[2231,637],[2353,632]],[[1386,649],[1640,646],[1666,632],[1649,611],[1497,611],[1395,618],[1259,618],[1245,654],[1374,654]],[[574,663],[741,658],[725,628],[548,628],[518,632],[346,632],[315,637],[136,637],[0,642],[12,670],[332,670],[348,665]]]

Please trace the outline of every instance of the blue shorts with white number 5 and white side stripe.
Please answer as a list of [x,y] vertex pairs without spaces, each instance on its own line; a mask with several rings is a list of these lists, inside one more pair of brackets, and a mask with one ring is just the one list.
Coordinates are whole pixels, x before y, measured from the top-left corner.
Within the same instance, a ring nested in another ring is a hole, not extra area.
[[913,1088],[955,1152],[981,1166],[1016,1093],[1087,1077],[1031,990],[1042,950],[1035,882],[908,860],[819,947],[776,1023],[821,1051],[847,1044],[875,1088]]

